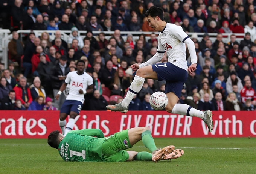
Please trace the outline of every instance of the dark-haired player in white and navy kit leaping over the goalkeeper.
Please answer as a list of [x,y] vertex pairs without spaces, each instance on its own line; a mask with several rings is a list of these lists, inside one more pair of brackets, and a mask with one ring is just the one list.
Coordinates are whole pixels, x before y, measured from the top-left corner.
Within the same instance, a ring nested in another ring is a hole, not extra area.
[[[173,114],[181,114],[199,117],[207,124],[210,132],[213,130],[212,112],[199,111],[186,104],[177,104],[181,90],[187,80],[188,73],[195,71],[197,68],[197,56],[195,53],[194,42],[182,30],[180,26],[166,23],[164,21],[163,9],[152,6],[146,12],[149,26],[155,31],[161,32],[158,36],[157,53],[147,62],[138,65],[133,64],[131,68],[137,70],[136,76],[127,92],[123,101],[116,105],[109,105],[106,108],[111,111],[121,111],[126,113],[128,105],[133,97],[142,89],[145,78],[151,78],[158,81],[166,80],[165,93],[168,97],[166,111]],[[189,49],[191,56],[191,66],[187,68],[186,47]],[[164,53],[167,53],[168,62],[159,63]]]

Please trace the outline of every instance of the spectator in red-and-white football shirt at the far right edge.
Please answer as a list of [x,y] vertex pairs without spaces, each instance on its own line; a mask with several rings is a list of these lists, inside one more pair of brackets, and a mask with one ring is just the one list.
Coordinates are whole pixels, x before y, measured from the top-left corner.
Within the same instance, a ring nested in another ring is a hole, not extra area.
[[255,90],[251,87],[251,81],[247,80],[245,82],[244,88],[241,90],[241,99],[242,103],[245,104],[246,100],[250,99],[252,104],[256,105],[256,93]]

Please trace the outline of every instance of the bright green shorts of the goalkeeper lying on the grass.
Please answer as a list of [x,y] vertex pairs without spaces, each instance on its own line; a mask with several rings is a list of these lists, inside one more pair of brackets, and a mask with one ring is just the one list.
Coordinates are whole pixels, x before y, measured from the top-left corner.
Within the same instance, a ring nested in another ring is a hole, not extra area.
[[102,160],[105,162],[123,162],[129,159],[129,154],[125,151],[131,148],[128,130],[108,136],[102,144]]

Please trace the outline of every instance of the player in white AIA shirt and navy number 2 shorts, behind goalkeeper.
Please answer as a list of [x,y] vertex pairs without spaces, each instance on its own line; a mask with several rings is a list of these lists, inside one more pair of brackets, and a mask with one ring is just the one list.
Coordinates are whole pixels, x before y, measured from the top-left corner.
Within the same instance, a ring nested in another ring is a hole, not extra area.
[[[93,92],[93,78],[84,72],[84,68],[84,60],[78,60],[76,63],[77,71],[72,71],[67,74],[65,83],[62,84],[56,95],[56,100],[58,100],[61,93],[66,89],[67,84],[70,84],[69,95],[67,95],[67,98],[62,105],[61,113],[59,115],[59,126],[61,127],[64,136],[74,128],[75,117],[80,113],[83,107],[84,95]],[[66,118],[68,115],[70,118],[66,125]]]

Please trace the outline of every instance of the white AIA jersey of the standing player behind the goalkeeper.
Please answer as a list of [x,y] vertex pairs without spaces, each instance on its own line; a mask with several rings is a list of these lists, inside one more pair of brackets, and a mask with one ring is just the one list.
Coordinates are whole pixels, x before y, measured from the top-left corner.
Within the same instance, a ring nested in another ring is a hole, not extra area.
[[84,103],[84,94],[79,94],[79,89],[86,90],[88,86],[93,84],[93,78],[84,72],[82,75],[78,75],[77,71],[72,71],[67,74],[65,83],[69,85],[69,95],[66,100],[77,100]]

